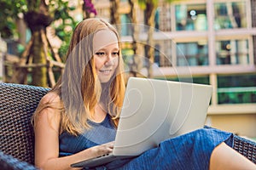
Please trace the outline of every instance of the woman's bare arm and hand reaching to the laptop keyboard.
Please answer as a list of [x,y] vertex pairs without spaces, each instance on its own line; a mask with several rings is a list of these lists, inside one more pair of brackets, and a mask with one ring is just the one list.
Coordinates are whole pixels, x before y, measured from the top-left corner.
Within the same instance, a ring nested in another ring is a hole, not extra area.
[[[51,95],[46,94],[42,103],[49,101]],[[72,169],[70,165],[92,157],[109,153],[113,144],[103,144],[83,150],[72,156],[59,157],[59,128],[61,113],[52,108],[46,108],[35,120],[35,166],[47,169]]]

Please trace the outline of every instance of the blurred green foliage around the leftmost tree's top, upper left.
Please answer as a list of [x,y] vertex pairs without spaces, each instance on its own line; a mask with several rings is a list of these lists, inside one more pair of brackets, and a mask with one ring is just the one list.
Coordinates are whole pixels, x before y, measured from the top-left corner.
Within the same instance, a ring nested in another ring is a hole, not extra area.
[[[1,37],[13,39],[18,37],[16,20],[27,12],[38,12],[41,0],[1,0],[0,2],[0,32]],[[69,12],[75,7],[70,7],[67,0],[49,0],[46,4],[49,16],[53,18],[52,26],[55,28],[55,35],[62,41],[59,54],[64,56],[67,52],[67,45],[71,34],[78,24],[73,20]],[[58,22],[58,24],[56,24]]]

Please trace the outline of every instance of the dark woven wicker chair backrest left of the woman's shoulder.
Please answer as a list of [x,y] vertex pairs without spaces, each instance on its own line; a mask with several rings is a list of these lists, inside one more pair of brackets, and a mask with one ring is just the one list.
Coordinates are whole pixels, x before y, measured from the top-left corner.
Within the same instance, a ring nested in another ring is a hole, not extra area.
[[34,162],[32,113],[49,88],[0,83],[0,150],[21,161]]

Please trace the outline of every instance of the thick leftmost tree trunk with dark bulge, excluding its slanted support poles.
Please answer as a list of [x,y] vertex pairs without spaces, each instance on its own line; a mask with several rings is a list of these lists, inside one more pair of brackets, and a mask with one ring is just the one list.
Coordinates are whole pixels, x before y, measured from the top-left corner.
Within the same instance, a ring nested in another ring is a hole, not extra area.
[[32,31],[32,45],[27,51],[26,65],[41,64],[31,69],[32,85],[48,87],[47,55],[49,52],[45,48],[49,47],[49,44],[45,44],[47,41],[44,41],[43,37],[46,37],[46,27],[50,25],[52,18],[44,0],[41,0],[38,8],[38,10],[29,11],[24,15],[26,25]]

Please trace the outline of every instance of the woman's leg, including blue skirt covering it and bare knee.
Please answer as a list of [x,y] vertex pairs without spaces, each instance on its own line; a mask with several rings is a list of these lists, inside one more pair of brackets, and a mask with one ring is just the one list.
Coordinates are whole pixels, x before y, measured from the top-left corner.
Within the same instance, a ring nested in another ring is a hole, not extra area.
[[232,133],[212,128],[199,129],[177,138],[167,139],[158,148],[119,164],[119,168],[114,165],[113,169],[256,170],[252,161],[229,146],[232,142]]

